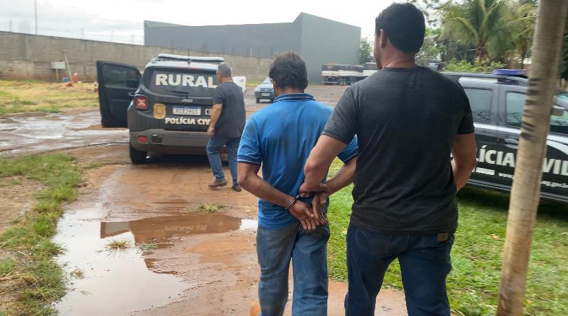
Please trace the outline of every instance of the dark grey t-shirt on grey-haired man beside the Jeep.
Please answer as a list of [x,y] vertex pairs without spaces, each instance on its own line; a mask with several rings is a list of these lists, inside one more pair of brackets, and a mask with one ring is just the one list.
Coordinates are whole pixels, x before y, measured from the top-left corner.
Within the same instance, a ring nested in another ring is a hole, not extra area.
[[235,82],[224,82],[215,88],[213,105],[223,104],[221,115],[215,123],[215,136],[239,138],[246,121],[243,90]]

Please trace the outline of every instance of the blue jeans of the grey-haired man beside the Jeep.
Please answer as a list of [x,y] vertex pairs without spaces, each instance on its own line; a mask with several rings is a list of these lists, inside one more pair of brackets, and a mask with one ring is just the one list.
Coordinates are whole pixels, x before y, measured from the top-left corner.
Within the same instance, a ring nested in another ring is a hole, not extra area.
[[237,150],[239,150],[239,143],[241,143],[240,137],[226,138],[213,136],[209,138],[206,149],[207,158],[209,158],[209,165],[211,165],[215,179],[219,181],[225,180],[225,173],[223,173],[223,165],[219,153],[221,148],[226,145],[230,176],[233,177],[233,184],[237,184]]

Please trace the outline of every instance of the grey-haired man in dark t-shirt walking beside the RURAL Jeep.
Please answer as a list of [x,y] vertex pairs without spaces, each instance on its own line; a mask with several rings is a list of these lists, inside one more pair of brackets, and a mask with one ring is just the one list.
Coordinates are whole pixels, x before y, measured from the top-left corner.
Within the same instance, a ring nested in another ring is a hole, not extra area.
[[241,192],[241,186],[237,183],[237,150],[246,121],[243,90],[233,82],[233,71],[225,62],[217,68],[217,80],[219,86],[213,94],[213,109],[207,130],[207,157],[215,175],[215,181],[209,187],[227,185],[219,154],[221,148],[226,146],[233,190]]

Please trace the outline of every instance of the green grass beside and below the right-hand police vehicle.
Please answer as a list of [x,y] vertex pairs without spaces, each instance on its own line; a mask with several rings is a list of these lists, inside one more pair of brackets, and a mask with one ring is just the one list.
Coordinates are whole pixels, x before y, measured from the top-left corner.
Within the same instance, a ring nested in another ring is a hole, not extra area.
[[[345,236],[352,187],[331,196],[329,274],[346,280]],[[466,188],[458,195],[460,227],[455,233],[453,270],[447,287],[451,308],[466,316],[495,315],[504,249],[508,195]],[[568,315],[568,206],[542,202],[534,229],[525,315]],[[402,289],[398,262],[383,287]]]

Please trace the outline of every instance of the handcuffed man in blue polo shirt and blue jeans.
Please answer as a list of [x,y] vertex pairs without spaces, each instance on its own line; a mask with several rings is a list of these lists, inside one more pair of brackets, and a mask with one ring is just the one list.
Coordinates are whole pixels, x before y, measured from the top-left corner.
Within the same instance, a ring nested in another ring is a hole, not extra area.
[[[316,195],[313,202],[297,195],[304,182],[304,163],[332,110],[304,93],[307,69],[297,53],[276,56],[269,77],[278,97],[250,117],[237,154],[239,184],[259,197],[260,306],[251,306],[251,315],[284,313],[291,259],[292,315],[327,315],[327,195]],[[354,138],[338,155],[344,166],[322,184],[327,192],[353,182],[356,144]],[[263,178],[258,175],[261,166]]]

